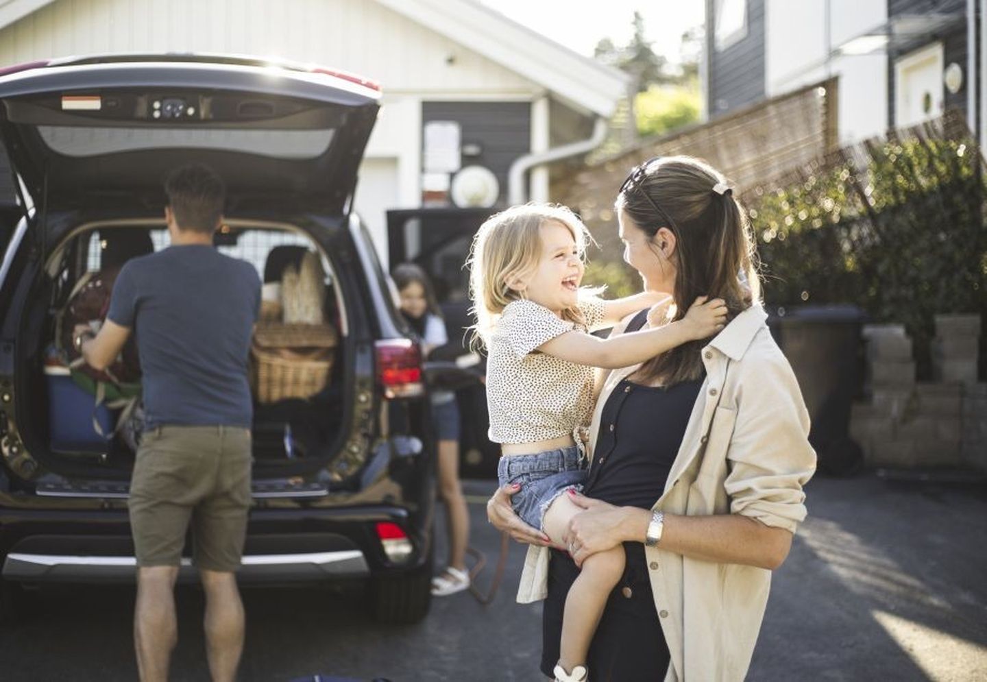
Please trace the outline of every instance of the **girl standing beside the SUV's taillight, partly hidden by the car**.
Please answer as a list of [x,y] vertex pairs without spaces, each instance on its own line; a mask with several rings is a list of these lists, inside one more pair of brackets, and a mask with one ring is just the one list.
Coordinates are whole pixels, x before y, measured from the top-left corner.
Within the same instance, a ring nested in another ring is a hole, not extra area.
[[[431,282],[418,265],[406,263],[394,268],[394,283],[401,296],[401,312],[421,340],[421,350],[428,355],[434,348],[449,342],[445,323],[435,301]],[[438,435],[439,495],[448,514],[449,564],[432,579],[432,594],[445,596],[470,586],[466,570],[466,545],[469,542],[470,516],[459,483],[459,408],[452,391],[432,391],[432,417]]]

